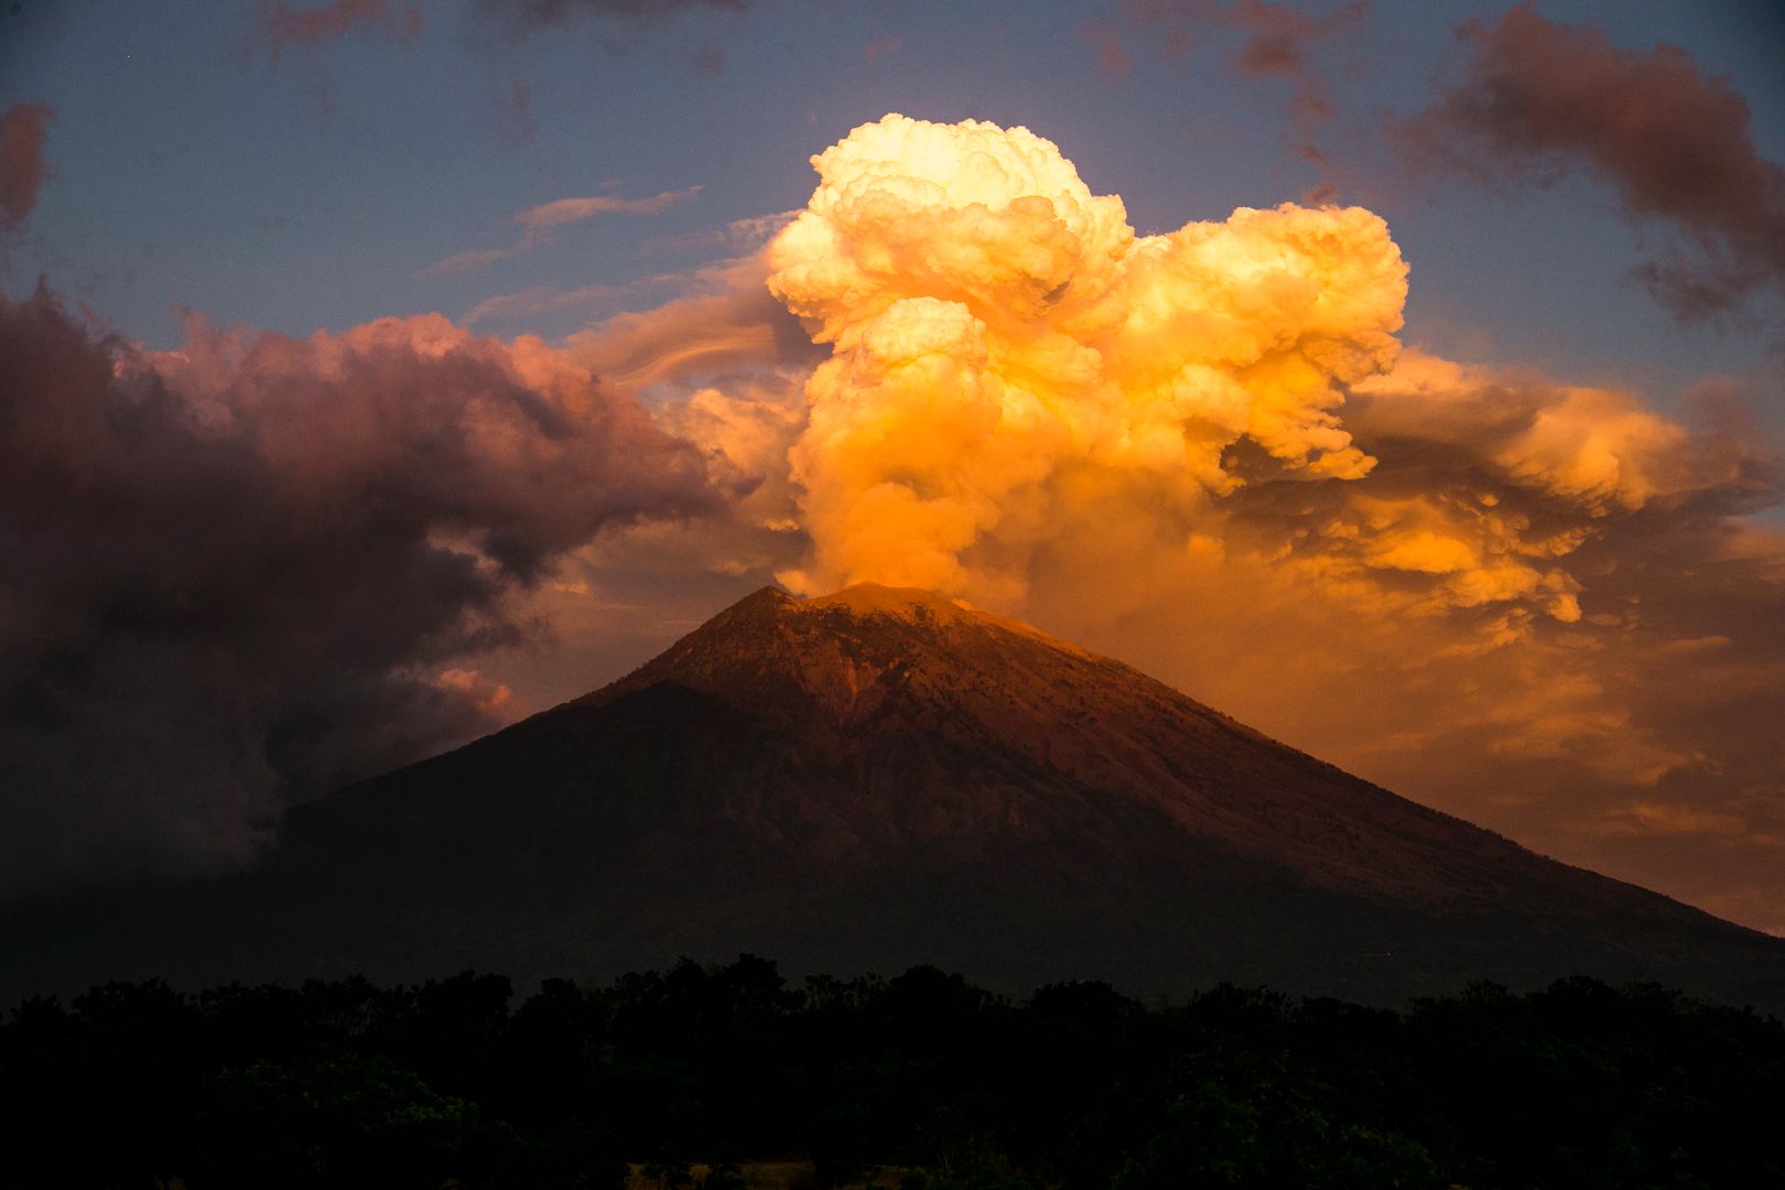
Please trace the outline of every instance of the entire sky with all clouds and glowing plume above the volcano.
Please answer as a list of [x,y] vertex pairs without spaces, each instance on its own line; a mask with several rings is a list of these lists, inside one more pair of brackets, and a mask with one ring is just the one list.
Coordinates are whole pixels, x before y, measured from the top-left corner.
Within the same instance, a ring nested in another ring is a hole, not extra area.
[[1785,933],[1781,66],[1735,0],[0,5],[0,896],[876,580]]

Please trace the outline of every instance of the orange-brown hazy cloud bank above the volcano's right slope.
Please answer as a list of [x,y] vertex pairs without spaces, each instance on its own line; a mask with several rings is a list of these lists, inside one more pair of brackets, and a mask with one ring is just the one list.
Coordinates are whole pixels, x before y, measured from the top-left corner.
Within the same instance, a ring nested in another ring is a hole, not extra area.
[[1344,425],[1358,480],[1235,459],[1201,508],[1057,507],[1021,610],[1396,792],[1785,926],[1785,535],[1749,517],[1778,451],[1417,351]]

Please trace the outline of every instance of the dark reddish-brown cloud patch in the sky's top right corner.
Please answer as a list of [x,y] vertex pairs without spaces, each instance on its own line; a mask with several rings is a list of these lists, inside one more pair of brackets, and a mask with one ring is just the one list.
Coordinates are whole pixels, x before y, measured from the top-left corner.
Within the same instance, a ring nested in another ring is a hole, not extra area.
[[1669,225],[1694,250],[1637,271],[1680,318],[1785,291],[1785,169],[1755,148],[1748,102],[1726,80],[1685,50],[1621,50],[1532,5],[1458,36],[1462,77],[1394,128],[1416,164],[1494,186],[1571,171],[1612,186],[1626,219]]

